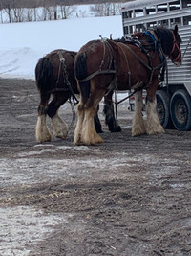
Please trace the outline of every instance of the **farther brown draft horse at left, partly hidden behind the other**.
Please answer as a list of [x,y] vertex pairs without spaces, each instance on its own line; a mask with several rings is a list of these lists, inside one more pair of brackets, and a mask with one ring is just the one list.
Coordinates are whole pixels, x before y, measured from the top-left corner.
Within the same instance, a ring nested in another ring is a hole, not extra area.
[[[35,67],[35,80],[40,93],[38,106],[38,120],[35,128],[37,142],[52,140],[50,129],[46,124],[47,115],[51,118],[53,134],[58,138],[68,135],[65,122],[58,115],[58,109],[70,98],[77,102],[74,94],[78,94],[76,80],[74,78],[74,57],[76,52],[57,49],[40,58]],[[49,103],[51,95],[53,100]],[[108,96],[109,98],[109,96]],[[98,118],[98,108],[95,114],[96,132],[102,132]],[[113,132],[120,131],[114,117],[114,109],[111,101],[105,105],[106,124]],[[110,116],[113,118],[111,119]],[[109,121],[108,121],[109,120]]]

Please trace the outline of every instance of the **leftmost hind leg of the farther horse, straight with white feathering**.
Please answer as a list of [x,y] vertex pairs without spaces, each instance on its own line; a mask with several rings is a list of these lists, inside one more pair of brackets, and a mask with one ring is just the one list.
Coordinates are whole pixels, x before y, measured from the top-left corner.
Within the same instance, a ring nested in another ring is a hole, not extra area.
[[41,101],[38,105],[38,120],[35,128],[35,137],[37,142],[46,142],[52,140],[52,135],[46,124],[47,106],[50,94],[41,94]]

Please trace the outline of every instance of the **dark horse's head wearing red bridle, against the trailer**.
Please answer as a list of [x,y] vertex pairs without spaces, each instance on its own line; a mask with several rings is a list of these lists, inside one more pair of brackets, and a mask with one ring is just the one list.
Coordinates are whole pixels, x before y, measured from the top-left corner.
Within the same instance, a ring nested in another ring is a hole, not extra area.
[[164,28],[157,29],[157,34],[160,37],[164,54],[166,54],[176,66],[180,66],[182,60],[180,50],[181,38],[178,33],[178,26],[176,25],[174,30]]

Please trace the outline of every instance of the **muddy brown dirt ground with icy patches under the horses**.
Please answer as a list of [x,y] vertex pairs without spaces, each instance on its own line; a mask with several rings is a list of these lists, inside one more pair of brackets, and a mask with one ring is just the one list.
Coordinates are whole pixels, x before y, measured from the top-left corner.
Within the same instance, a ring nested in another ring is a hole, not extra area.
[[34,81],[1,79],[0,99],[1,256],[191,255],[191,132],[131,137],[124,103],[120,133],[100,113],[100,146],[74,146],[74,126],[38,144]]

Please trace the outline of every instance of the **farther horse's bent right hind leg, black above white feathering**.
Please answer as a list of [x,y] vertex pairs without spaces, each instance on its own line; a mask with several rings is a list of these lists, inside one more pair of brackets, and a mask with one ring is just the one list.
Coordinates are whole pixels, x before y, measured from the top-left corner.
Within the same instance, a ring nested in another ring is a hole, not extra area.
[[53,135],[57,138],[66,138],[68,136],[68,128],[66,123],[61,119],[58,114],[58,109],[67,101],[68,97],[66,92],[56,93],[53,96],[53,101],[48,105],[47,113],[51,118]]

